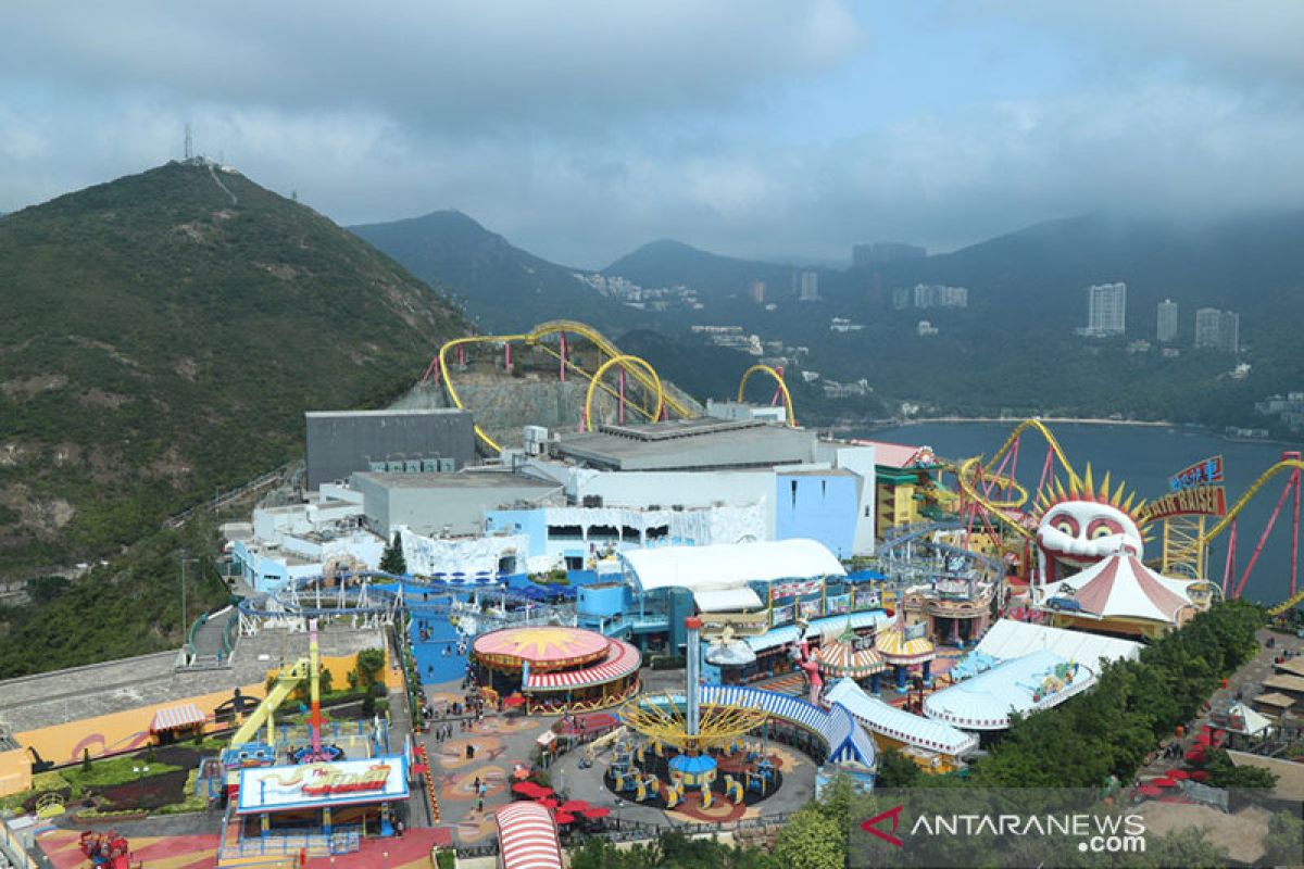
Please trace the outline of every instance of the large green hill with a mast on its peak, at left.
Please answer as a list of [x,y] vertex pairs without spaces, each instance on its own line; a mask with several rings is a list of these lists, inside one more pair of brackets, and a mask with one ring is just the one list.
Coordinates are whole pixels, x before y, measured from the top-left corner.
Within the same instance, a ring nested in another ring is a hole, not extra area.
[[[120,552],[215,489],[300,456],[304,410],[396,395],[467,328],[441,293],[356,236],[201,162],[0,220],[0,575],[10,578]],[[47,641],[59,646],[44,649],[50,666],[175,646],[180,616],[154,591],[176,588],[176,562],[150,551],[48,605],[112,586],[112,601],[81,615],[103,634],[98,648],[63,648],[89,625],[63,640],[34,633],[57,612],[0,614],[0,676],[48,668],[33,661]]]

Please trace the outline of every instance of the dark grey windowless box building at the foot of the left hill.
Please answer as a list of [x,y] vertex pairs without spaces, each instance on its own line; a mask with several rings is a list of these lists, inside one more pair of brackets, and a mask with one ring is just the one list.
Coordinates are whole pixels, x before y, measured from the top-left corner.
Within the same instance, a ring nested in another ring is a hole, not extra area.
[[466,410],[313,410],[304,422],[309,489],[359,470],[452,472],[475,461]]

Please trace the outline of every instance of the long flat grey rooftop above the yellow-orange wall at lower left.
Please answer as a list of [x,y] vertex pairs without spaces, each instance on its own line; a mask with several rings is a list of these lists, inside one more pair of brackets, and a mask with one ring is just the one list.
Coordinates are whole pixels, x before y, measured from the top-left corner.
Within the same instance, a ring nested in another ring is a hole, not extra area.
[[[363,649],[385,648],[379,631],[327,627],[319,636],[321,654],[347,657]],[[22,734],[52,724],[121,713],[188,697],[261,684],[269,670],[308,654],[308,634],[267,628],[241,637],[231,666],[176,672],[176,651],[160,651],[86,667],[21,676],[0,681],[0,730]],[[265,659],[259,659],[266,655]],[[261,696],[261,692],[259,692]],[[52,758],[47,758],[52,760]]]

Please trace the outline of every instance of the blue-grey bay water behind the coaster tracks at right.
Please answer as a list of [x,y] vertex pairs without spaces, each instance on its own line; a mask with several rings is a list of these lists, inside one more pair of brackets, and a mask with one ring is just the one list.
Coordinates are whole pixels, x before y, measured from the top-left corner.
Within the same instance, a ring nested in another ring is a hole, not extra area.
[[[865,431],[858,436],[893,443],[928,446],[947,459],[995,455],[1017,421],[1009,422],[919,422],[893,429]],[[1047,427],[1060,442],[1064,453],[1081,474],[1090,463],[1097,481],[1104,472],[1112,474],[1114,485],[1127,482],[1127,491],[1138,498],[1153,499],[1168,491],[1168,477],[1183,468],[1208,459],[1223,456],[1227,506],[1231,507],[1249,486],[1275,464],[1284,451],[1299,451],[1300,444],[1265,442],[1237,442],[1214,436],[1206,431],[1178,426],[1102,425],[1086,422],[1051,422]],[[1035,431],[1025,431],[1020,440],[1018,481],[1033,491],[1041,478],[1046,460],[1046,442]],[[1230,588],[1235,588],[1249,563],[1254,547],[1282,495],[1290,472],[1282,472],[1267,482],[1241,511],[1236,526],[1236,572]],[[953,482],[953,478],[948,478]],[[1281,516],[1264,545],[1262,554],[1245,584],[1243,595],[1262,603],[1275,603],[1288,597],[1291,584],[1291,511],[1287,498]],[[1162,548],[1162,528],[1151,529],[1153,539],[1146,545],[1146,558],[1158,558]],[[1226,564],[1228,534],[1222,534],[1210,547],[1206,573],[1222,582]],[[1304,571],[1299,575],[1304,590]]]

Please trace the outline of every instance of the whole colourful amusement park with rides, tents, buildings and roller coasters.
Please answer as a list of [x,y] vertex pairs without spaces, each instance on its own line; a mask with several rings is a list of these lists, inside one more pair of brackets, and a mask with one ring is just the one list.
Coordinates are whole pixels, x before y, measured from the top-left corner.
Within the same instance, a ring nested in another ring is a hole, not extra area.
[[[1089,786],[1154,830],[1266,831],[1228,804],[1245,770],[1304,796],[1299,452],[1241,491],[1223,456],[1136,491],[1039,420],[943,456],[798,418],[781,369],[703,405],[571,321],[309,413],[297,490],[223,528],[231,602],[184,649],[4,684],[16,865],[792,853],[840,790],[1011,784],[1039,722],[1214,633]],[[1282,593],[1252,605],[1265,552]],[[1081,784],[1055,774],[1026,784]]]

